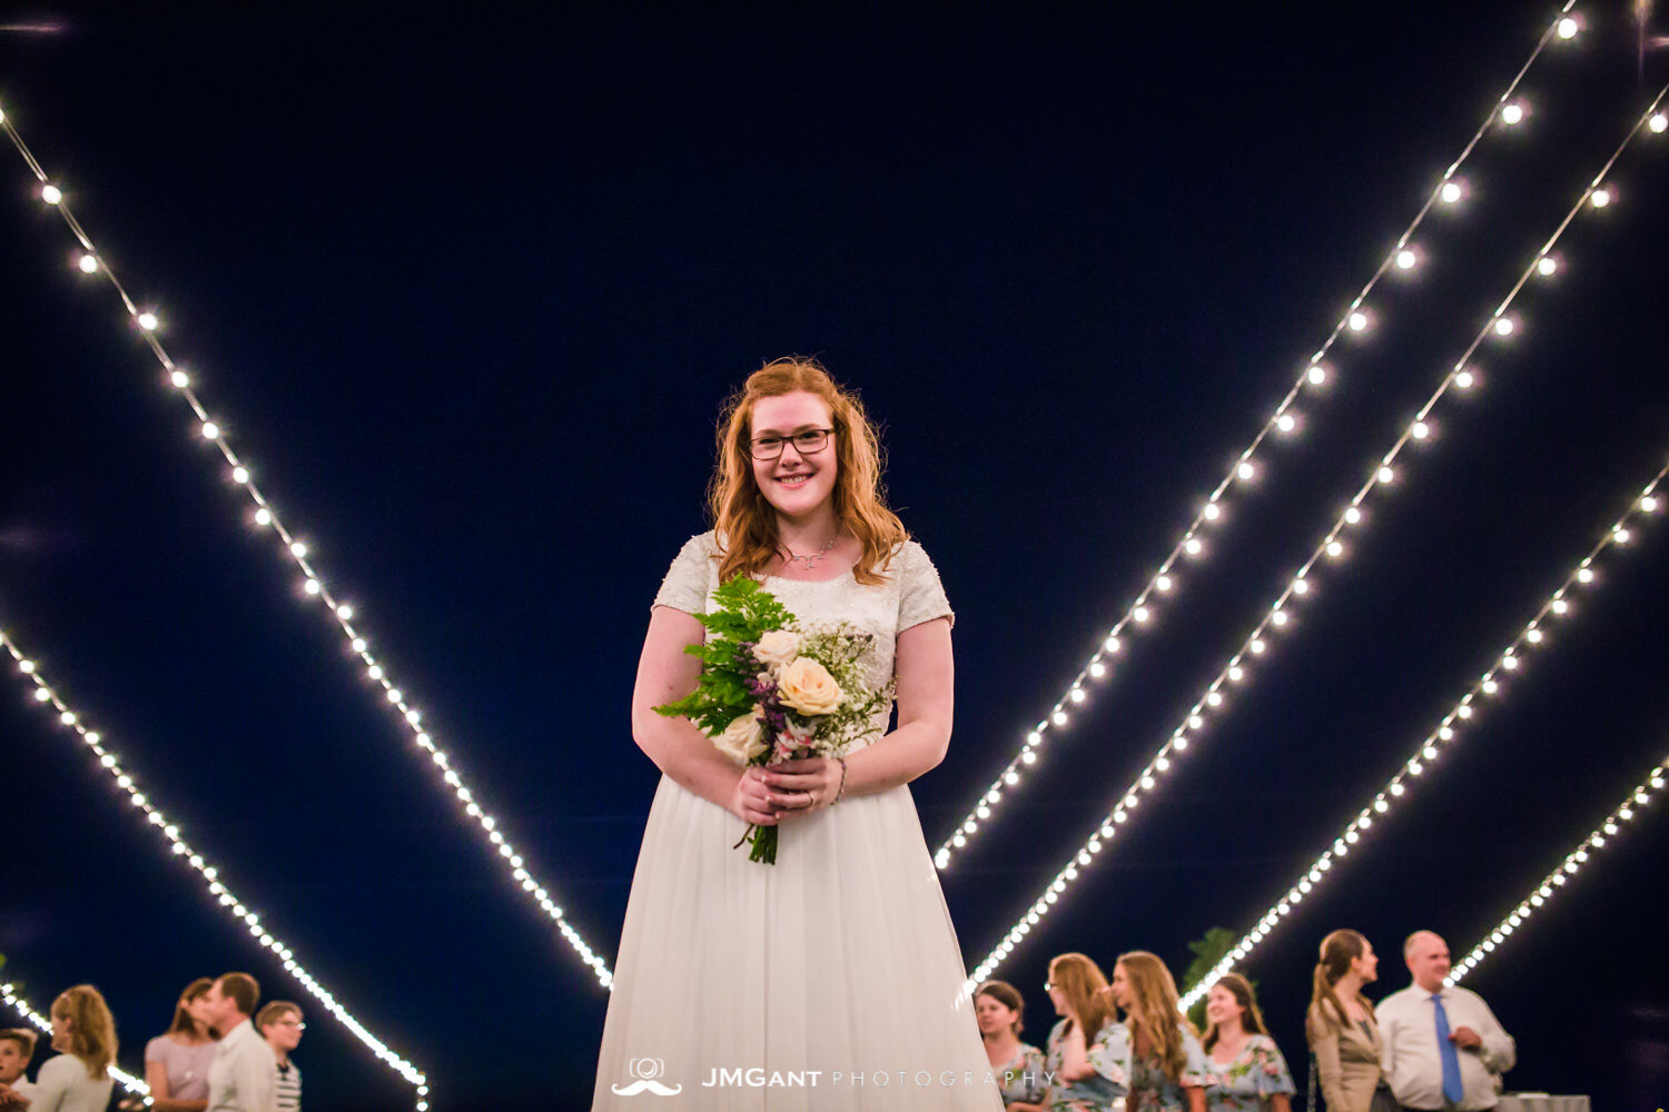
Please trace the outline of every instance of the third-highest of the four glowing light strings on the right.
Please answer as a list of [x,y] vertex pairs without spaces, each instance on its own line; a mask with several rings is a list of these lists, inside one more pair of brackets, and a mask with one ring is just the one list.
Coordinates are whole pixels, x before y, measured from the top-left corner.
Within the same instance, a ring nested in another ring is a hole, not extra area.
[[[1577,560],[1577,564],[1566,575],[1564,582],[1557,590],[1549,595],[1549,599],[1535,610],[1529,622],[1520,627],[1519,635],[1512,640],[1507,649],[1504,649],[1495,662],[1472,684],[1470,690],[1454,705],[1449,714],[1439,720],[1437,729],[1427,734],[1420,742],[1415,744],[1414,754],[1404,762],[1402,769],[1385,784],[1374,799],[1357,812],[1355,819],[1334,839],[1334,844],[1320,857],[1317,857],[1308,869],[1305,869],[1298,880],[1287,889],[1273,907],[1263,912],[1263,917],[1257,920],[1257,925],[1245,934],[1233,949],[1223,955],[1212,972],[1208,972],[1182,1000],[1183,1010],[1193,1007],[1193,1004],[1210,990],[1212,984],[1218,977],[1237,967],[1240,962],[1252,954],[1253,949],[1275,929],[1275,925],[1298,904],[1302,904],[1320,884],[1327,879],[1332,867],[1344,857],[1347,857],[1362,835],[1384,815],[1387,815],[1400,800],[1405,800],[1409,789],[1415,785],[1420,777],[1430,774],[1434,762],[1440,760],[1444,754],[1454,747],[1462,737],[1462,724],[1472,725],[1475,719],[1475,709],[1485,707],[1492,699],[1495,699],[1507,675],[1519,670],[1522,659],[1532,652],[1545,649],[1549,644],[1547,630],[1572,615],[1571,600],[1581,594],[1586,587],[1591,587],[1597,577],[1594,575],[1594,562],[1599,560],[1607,548],[1622,547],[1617,542],[1617,532],[1627,532],[1629,525],[1647,525],[1651,523],[1662,508],[1659,487],[1664,478],[1669,477],[1669,463],[1666,463],[1652,480],[1636,495],[1629,508],[1624,510],[1622,517],[1611,528],[1606,530],[1604,537],[1587,552],[1586,557]],[[1512,664],[1509,664],[1512,662]]]

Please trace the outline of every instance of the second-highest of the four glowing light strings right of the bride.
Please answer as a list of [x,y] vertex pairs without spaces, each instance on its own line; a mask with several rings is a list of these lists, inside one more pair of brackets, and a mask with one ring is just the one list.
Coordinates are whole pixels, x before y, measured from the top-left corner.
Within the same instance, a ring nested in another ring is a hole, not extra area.
[[[1657,93],[1652,107],[1629,130],[1627,137],[1617,150],[1612,152],[1611,158],[1606,160],[1599,173],[1596,173],[1587,187],[1582,188],[1576,203],[1554,228],[1554,233],[1547,237],[1542,247],[1530,257],[1529,265],[1519,275],[1517,282],[1514,282],[1512,288],[1494,308],[1494,312],[1489,313],[1484,327],[1479,328],[1465,352],[1462,352],[1462,355],[1437,383],[1432,395],[1425,400],[1419,412],[1415,412],[1412,422],[1397,435],[1390,450],[1387,450],[1379,462],[1369,468],[1367,480],[1355,492],[1350,502],[1345,503],[1344,512],[1322,535],[1320,543],[1315,545],[1308,559],[1298,567],[1292,579],[1287,580],[1285,587],[1263,612],[1262,619],[1257,622],[1240,649],[1235,650],[1235,654],[1230,655],[1222,665],[1212,682],[1205,687],[1205,692],[1195,700],[1195,704],[1183,715],[1182,722],[1172,730],[1170,737],[1148,759],[1147,767],[1137,774],[1135,780],[1132,780],[1122,795],[1115,797],[1115,802],[1105,819],[1102,819],[1098,829],[1085,839],[1083,845],[1066,860],[1060,872],[1055,874],[1055,879],[1033,902],[1031,909],[1013,927],[1010,927],[1001,942],[998,942],[996,947],[980,962],[971,977],[973,982],[990,977],[996,965],[1003,962],[1031,932],[1031,929],[1041,922],[1066,889],[1078,880],[1082,875],[1080,870],[1090,865],[1095,857],[1117,839],[1118,832],[1127,822],[1130,822],[1137,807],[1158,790],[1160,782],[1175,767],[1175,762],[1190,752],[1193,740],[1210,729],[1213,720],[1227,714],[1230,709],[1230,695],[1243,690],[1252,682],[1255,665],[1267,659],[1273,640],[1293,629],[1293,614],[1302,604],[1314,599],[1312,592],[1315,587],[1315,570],[1327,564],[1337,564],[1347,557],[1347,537],[1362,535],[1369,520],[1364,507],[1367,507],[1375,495],[1389,492],[1397,482],[1397,462],[1404,450],[1410,445],[1424,445],[1430,442],[1434,435],[1432,412],[1437,408],[1439,402],[1449,397],[1450,392],[1465,393],[1477,387],[1477,372],[1474,370],[1472,362],[1477,350],[1489,340],[1507,342],[1519,332],[1519,318],[1510,310],[1520,292],[1534,277],[1549,277],[1559,272],[1559,262],[1554,248],[1564,237],[1566,230],[1581,212],[1589,208],[1607,208],[1611,205],[1612,192],[1607,185],[1607,175],[1622,152],[1629,148],[1642,130],[1659,133],[1649,122],[1659,117],[1657,108],[1666,93],[1669,93],[1669,85]],[[1545,267],[1544,263],[1554,265]]]

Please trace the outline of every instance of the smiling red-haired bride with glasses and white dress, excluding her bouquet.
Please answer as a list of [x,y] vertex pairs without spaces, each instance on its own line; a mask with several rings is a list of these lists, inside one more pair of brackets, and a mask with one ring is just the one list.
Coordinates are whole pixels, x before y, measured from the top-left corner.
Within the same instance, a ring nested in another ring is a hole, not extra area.
[[[656,595],[633,737],[661,769],[603,1029],[592,1109],[1001,1109],[908,784],[945,759],[953,615],[880,497],[858,400],[809,360],[754,372],[719,422],[716,528]],[[738,767],[686,719],[696,614],[753,575],[801,622],[873,635],[898,719],[843,759]],[[774,865],[733,849],[778,827]],[[673,1094],[656,1099],[651,1094]]]

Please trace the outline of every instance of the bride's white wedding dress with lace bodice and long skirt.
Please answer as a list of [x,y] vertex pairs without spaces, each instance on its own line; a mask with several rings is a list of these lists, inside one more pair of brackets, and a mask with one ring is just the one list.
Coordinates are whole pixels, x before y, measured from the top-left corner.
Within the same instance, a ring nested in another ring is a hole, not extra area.
[[[886,574],[878,587],[850,572],[764,587],[801,620],[873,634],[868,667],[880,685],[900,630],[951,617],[920,545],[905,543]],[[704,533],[679,552],[654,605],[703,614],[716,587]],[[592,1110],[1000,1112],[910,789],[784,822],[776,865],[731,849],[744,829],[661,777]]]

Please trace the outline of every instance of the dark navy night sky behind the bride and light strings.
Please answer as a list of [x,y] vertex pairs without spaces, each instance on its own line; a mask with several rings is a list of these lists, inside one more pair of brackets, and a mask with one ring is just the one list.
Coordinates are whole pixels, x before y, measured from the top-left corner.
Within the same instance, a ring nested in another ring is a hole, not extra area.
[[[224,5],[222,5],[224,7]],[[1624,3],[1530,72],[1417,277],[1335,353],[1212,557],[945,880],[970,965],[1036,897],[1464,350],[1669,63]],[[169,5],[0,32],[0,108],[160,307],[319,567],[611,960],[656,770],[648,604],[719,398],[824,358],[958,609],[936,845],[1061,694],[1384,258],[1554,3]],[[0,8],[23,23],[42,8]],[[1659,20],[1661,22],[1661,20]],[[1664,33],[1659,27],[1657,33]],[[1187,964],[1248,927],[1669,452],[1669,138],[1617,163],[1524,335],[1375,503],[1233,710],[1003,969]],[[579,1109],[606,995],[304,605],[110,288],[0,148],[0,622],[441,1109]],[[1654,323],[1656,322],[1656,323]],[[1662,523],[1248,964],[1302,1070],[1339,925],[1469,949],[1669,750]],[[7,690],[8,689],[8,690]],[[0,687],[0,954],[92,980],[137,1067],[174,994],[300,987]],[[1470,980],[1517,1089],[1669,1095],[1662,804]],[[811,955],[808,960],[814,960]],[[885,1000],[875,1002],[885,1007]],[[322,1009],[309,1107],[409,1107]],[[0,1017],[3,1019],[3,1017]],[[1302,1080],[1302,1079],[1300,1079]]]

